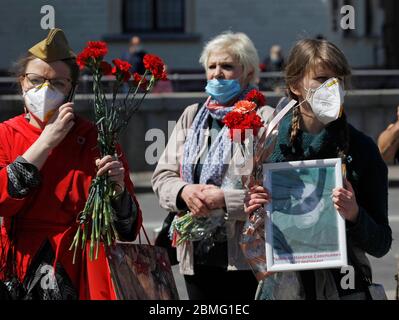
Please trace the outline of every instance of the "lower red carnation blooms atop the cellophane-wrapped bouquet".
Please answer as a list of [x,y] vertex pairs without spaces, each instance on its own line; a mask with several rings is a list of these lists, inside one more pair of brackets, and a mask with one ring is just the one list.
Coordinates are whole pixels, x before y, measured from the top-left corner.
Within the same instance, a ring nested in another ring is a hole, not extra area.
[[224,117],[223,123],[230,129],[230,138],[235,142],[243,142],[247,130],[252,130],[253,135],[257,136],[263,126],[261,117],[255,111],[248,113],[232,111]]

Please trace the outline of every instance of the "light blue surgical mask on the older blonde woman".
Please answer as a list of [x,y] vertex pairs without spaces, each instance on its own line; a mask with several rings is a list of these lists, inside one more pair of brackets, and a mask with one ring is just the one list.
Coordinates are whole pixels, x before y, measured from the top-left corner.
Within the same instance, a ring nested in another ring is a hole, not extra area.
[[221,104],[229,102],[241,92],[241,85],[238,80],[208,80],[205,91],[213,99]]

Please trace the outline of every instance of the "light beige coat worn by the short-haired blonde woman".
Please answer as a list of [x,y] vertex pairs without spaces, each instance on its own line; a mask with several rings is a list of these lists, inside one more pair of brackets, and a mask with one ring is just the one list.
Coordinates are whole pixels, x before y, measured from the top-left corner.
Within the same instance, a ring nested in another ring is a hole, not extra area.
[[[152,176],[152,187],[159,199],[160,206],[168,211],[179,211],[176,206],[177,195],[181,188],[187,185],[180,178],[180,165],[183,158],[184,142],[194,117],[198,110],[198,104],[188,106],[178,120],[168,144],[159,159],[158,165]],[[274,109],[265,106],[259,110],[259,114],[266,122]],[[209,129],[208,129],[209,131]],[[206,135],[209,132],[205,132]],[[207,139],[204,139],[206,142]],[[202,148],[204,150],[206,148]],[[198,155],[198,158],[201,155]],[[233,155],[232,160],[235,156]],[[226,223],[227,246],[228,246],[228,270],[250,269],[239,247],[241,230],[246,220],[244,212],[245,191],[237,187],[224,188],[226,212],[228,215]],[[193,244],[186,242],[177,248],[177,259],[179,260],[180,272],[182,274],[194,274]]]

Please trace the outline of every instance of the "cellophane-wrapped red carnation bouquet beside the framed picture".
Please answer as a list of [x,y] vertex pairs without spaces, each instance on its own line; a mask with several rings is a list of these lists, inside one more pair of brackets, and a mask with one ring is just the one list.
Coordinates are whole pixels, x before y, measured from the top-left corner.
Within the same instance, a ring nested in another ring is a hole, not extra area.
[[[267,123],[263,125],[255,108],[257,105],[265,105],[265,98],[257,90],[252,90],[245,98],[247,100],[239,101],[223,122],[230,128],[230,137],[241,151],[243,158],[241,164],[237,163],[234,167],[232,175],[235,177],[238,175],[243,188],[249,190],[255,184],[263,184],[262,165],[274,150],[279,122],[296,101],[292,100],[283,108],[278,105]],[[281,106],[284,103],[285,101],[281,102]],[[240,238],[242,252],[258,281],[263,281],[272,274],[266,270],[265,219],[264,207],[248,215]],[[284,276],[281,279],[283,278],[284,283],[295,280],[295,277]]]

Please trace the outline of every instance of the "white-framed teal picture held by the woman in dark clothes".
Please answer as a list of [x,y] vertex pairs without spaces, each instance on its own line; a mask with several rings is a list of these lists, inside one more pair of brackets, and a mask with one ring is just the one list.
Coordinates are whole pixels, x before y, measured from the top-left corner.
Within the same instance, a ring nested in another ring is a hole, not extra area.
[[263,165],[268,271],[340,268],[347,265],[345,220],[332,190],[342,187],[341,159]]

